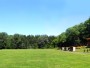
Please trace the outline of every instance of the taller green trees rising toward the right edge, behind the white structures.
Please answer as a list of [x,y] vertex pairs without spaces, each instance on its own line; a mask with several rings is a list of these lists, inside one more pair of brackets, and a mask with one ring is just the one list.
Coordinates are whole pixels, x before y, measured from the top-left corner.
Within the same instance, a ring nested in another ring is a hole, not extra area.
[[90,38],[90,18],[85,22],[66,29],[57,38],[57,45],[61,46],[86,46]]

